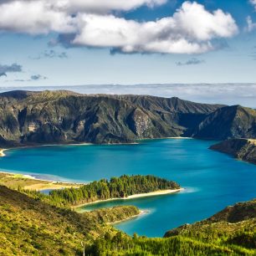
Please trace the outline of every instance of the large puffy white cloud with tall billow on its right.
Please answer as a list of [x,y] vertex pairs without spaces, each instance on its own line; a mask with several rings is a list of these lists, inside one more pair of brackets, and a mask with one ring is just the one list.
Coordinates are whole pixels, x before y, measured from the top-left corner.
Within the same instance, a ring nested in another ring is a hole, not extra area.
[[213,49],[211,39],[229,38],[238,32],[232,16],[213,13],[198,3],[185,2],[172,17],[138,23],[113,15],[82,13],[74,44],[113,47],[125,53],[156,52],[198,54]]

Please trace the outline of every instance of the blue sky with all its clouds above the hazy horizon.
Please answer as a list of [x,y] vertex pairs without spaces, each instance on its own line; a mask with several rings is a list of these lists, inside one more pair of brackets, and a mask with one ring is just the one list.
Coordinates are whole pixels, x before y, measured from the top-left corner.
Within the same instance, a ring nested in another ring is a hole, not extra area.
[[1,86],[256,82],[255,1],[97,1],[0,3]]

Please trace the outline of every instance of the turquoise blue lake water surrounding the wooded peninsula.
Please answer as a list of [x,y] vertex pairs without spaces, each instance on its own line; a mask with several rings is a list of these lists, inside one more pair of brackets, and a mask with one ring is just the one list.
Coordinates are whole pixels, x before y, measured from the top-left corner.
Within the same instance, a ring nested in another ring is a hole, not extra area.
[[44,146],[15,149],[0,158],[0,170],[57,181],[90,182],[122,174],[153,174],[176,181],[184,192],[96,207],[136,205],[149,213],[119,223],[126,233],[149,237],[207,218],[234,202],[256,197],[256,166],[208,150],[213,141],[154,140],[122,146]]

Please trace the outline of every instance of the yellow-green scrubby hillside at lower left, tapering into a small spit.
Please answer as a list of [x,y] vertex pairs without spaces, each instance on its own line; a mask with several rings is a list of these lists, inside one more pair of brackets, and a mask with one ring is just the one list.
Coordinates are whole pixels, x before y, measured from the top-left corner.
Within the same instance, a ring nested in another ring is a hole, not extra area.
[[139,213],[136,207],[114,207],[77,213],[50,206],[0,186],[0,255],[82,255],[83,246],[116,230],[104,223]]

